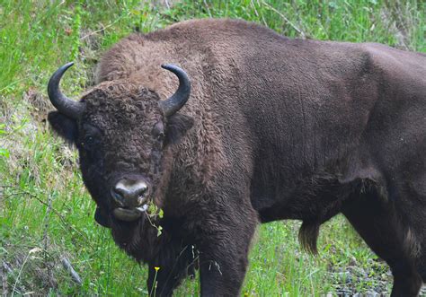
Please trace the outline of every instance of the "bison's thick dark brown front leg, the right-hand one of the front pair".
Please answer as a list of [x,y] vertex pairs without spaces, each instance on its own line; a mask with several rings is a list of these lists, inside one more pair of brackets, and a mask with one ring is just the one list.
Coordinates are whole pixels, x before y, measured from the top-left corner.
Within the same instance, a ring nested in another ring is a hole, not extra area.
[[205,221],[203,225],[205,237],[199,245],[202,296],[238,296],[240,293],[257,216],[253,212],[238,217],[236,212],[226,218],[226,214],[217,214],[218,219]]

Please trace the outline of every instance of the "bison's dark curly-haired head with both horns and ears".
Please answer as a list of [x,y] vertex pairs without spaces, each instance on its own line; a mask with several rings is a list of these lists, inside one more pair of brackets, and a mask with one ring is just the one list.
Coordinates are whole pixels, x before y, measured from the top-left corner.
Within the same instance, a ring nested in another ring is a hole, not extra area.
[[98,223],[138,221],[164,187],[168,148],[192,127],[192,118],[177,113],[190,97],[190,79],[178,66],[164,65],[180,83],[169,99],[117,80],[98,84],[77,102],[58,87],[72,65],[50,78],[49,99],[58,111],[49,113],[49,123],[78,149],[84,184],[98,205]]

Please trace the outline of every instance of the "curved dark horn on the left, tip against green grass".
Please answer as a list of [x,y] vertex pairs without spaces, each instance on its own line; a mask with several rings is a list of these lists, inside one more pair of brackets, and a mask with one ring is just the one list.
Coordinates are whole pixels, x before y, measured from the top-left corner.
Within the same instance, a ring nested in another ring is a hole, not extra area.
[[66,115],[68,118],[75,119],[78,118],[79,115],[81,115],[83,112],[83,103],[67,98],[67,96],[62,94],[62,92],[59,90],[59,82],[62,78],[62,75],[69,67],[73,65],[74,63],[71,62],[59,67],[59,69],[50,77],[48,84],[48,94],[50,102],[52,102],[53,106],[56,107],[59,112]]

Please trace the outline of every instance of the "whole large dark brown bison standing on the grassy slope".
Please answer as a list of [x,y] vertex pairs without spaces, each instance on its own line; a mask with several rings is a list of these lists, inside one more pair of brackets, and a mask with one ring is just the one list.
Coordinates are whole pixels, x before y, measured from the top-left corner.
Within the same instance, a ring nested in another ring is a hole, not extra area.
[[258,223],[301,220],[315,252],[341,212],[393,296],[426,281],[426,55],[202,20],[122,39],[79,102],[58,88],[71,65],[49,81],[49,122],[150,291],[155,266],[161,296],[199,268],[202,295],[236,296]]

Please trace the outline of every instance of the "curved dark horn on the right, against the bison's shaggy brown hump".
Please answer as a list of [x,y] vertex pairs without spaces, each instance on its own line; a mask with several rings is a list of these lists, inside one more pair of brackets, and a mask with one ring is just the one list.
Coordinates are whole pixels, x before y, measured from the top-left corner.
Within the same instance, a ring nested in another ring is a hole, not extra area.
[[164,69],[167,69],[179,78],[179,88],[177,91],[167,100],[160,101],[160,106],[164,110],[166,117],[172,116],[176,111],[182,109],[182,106],[190,98],[191,93],[191,81],[188,74],[184,72],[180,67],[173,64],[162,65]]

